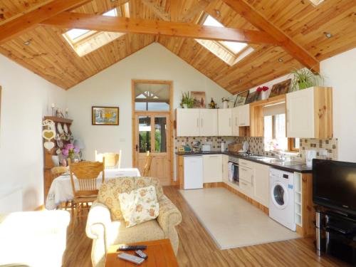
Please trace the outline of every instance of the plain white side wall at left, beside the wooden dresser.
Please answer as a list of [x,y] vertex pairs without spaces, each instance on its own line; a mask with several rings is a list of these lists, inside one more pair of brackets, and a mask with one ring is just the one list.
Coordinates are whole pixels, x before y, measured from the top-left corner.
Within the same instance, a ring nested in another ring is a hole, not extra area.
[[43,204],[42,117],[48,104],[65,107],[66,91],[1,55],[0,85],[1,192],[21,187],[23,210],[35,209]]

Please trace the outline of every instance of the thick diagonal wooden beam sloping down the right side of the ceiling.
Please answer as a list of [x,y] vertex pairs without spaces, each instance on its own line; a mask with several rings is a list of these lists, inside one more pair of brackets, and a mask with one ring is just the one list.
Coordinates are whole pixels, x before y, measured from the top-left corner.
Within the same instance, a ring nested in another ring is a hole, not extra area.
[[281,43],[281,46],[290,53],[296,60],[302,63],[305,67],[310,68],[314,72],[320,71],[320,64],[308,51],[295,43],[286,33],[283,33],[279,28],[269,22],[258,11],[244,0],[223,0],[225,4],[231,7],[236,13],[243,16],[249,23],[261,31],[265,31]]

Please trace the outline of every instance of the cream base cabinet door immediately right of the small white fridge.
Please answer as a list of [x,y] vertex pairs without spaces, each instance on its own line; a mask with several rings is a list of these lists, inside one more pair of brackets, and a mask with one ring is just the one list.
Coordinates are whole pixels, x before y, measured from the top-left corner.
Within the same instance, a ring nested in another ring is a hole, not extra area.
[[204,183],[222,182],[222,155],[203,155]]

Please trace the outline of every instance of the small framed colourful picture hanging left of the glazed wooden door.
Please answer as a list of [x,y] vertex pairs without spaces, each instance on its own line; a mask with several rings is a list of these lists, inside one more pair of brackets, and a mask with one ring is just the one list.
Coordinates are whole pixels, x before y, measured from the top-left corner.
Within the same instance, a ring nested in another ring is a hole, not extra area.
[[92,125],[119,125],[118,107],[92,107]]

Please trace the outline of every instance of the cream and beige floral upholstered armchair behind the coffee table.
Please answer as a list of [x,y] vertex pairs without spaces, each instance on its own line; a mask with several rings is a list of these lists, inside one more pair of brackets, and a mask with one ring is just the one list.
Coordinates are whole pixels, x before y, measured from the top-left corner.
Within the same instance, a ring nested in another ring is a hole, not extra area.
[[[117,197],[122,192],[155,186],[159,202],[159,216],[137,226],[126,228]],[[174,226],[182,221],[176,206],[164,194],[159,179],[151,177],[120,177],[105,182],[93,203],[86,225],[86,234],[93,239],[92,263],[95,267],[105,266],[108,248],[115,244],[130,244],[139,241],[169,239],[177,254],[179,239]]]

